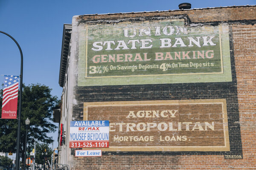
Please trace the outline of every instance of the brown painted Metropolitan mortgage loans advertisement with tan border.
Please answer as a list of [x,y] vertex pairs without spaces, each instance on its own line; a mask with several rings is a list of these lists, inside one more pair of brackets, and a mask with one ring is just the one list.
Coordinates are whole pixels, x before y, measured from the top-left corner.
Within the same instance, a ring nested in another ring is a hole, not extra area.
[[109,148],[102,151],[230,151],[225,99],[84,103],[84,120],[105,119]]

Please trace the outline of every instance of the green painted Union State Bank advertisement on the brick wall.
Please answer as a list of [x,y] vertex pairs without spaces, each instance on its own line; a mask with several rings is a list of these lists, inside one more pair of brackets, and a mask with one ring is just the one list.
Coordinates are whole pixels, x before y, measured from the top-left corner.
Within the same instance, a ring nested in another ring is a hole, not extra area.
[[79,86],[232,81],[225,24],[163,19],[79,24],[78,31]]

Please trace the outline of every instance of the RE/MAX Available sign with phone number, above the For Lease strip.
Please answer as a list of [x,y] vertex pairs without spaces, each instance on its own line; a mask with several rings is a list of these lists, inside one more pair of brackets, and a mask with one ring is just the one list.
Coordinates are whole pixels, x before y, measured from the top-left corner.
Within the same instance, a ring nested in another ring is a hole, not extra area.
[[71,121],[70,147],[109,147],[109,121]]

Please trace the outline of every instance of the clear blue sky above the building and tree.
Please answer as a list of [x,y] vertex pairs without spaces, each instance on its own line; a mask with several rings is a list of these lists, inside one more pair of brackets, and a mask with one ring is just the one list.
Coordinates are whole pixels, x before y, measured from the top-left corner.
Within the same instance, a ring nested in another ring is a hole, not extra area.
[[[0,31],[20,44],[23,82],[47,85],[52,88],[52,95],[60,98],[63,24],[71,24],[74,15],[174,10],[184,2],[191,3],[192,8],[256,5],[256,0],[0,0]],[[20,53],[15,42],[4,34],[0,34],[0,74],[20,74]],[[57,136],[55,133],[54,147]]]

